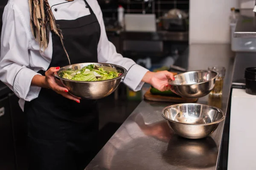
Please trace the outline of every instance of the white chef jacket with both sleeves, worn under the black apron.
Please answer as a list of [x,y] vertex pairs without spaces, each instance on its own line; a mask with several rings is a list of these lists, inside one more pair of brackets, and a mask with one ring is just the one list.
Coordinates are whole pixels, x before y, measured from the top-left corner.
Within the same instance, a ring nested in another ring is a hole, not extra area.
[[[90,14],[84,0],[48,0],[56,20],[75,20]],[[147,69],[134,65],[131,59],[122,57],[115,46],[108,41],[97,0],[87,0],[99,21],[101,36],[98,44],[98,61],[121,65],[128,74],[123,82],[134,91],[139,91]],[[52,35],[49,35],[48,48],[40,54],[39,44],[32,36],[28,0],[9,0],[3,12],[1,35],[0,80],[20,98],[24,109],[25,101],[38,97],[40,87],[31,86],[32,78],[40,70],[47,71],[52,59]],[[132,66],[132,67],[131,67]]]

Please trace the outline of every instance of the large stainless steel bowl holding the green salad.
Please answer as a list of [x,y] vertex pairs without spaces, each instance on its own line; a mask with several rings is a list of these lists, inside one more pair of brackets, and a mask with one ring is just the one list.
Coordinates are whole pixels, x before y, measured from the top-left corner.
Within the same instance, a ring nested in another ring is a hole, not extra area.
[[[58,74],[61,71],[64,71],[66,69],[71,68],[73,70],[79,70],[84,66],[87,66],[90,64],[104,67],[104,69],[107,71],[113,71],[113,70],[118,71],[119,73],[122,73],[122,75],[115,79],[95,81],[95,82],[74,81],[74,80],[64,79],[58,76]],[[127,74],[127,70],[121,66],[114,65],[114,64],[107,64],[107,63],[91,62],[91,63],[67,65],[65,67],[62,67],[54,75],[57,79],[60,79],[64,87],[67,88],[69,90],[69,93],[72,94],[73,96],[79,97],[81,99],[101,99],[112,94],[113,91],[115,91],[118,85],[120,84],[122,77],[125,77],[126,74]]]

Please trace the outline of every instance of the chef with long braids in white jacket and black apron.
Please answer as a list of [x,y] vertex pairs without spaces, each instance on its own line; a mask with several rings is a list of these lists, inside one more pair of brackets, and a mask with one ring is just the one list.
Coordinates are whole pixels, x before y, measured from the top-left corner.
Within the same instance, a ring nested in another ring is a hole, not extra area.
[[122,81],[134,91],[144,82],[164,91],[174,79],[116,53],[97,0],[9,0],[0,80],[20,98],[27,116],[30,170],[83,170],[91,159],[99,123],[96,101],[71,96],[53,77],[60,67],[82,62],[125,67]]

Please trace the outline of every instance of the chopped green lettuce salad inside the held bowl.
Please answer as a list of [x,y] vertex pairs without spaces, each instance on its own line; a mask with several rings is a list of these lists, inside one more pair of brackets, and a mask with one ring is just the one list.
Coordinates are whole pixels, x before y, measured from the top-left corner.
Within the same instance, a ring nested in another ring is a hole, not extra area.
[[61,71],[59,76],[65,79],[91,82],[91,81],[102,81],[107,79],[114,79],[121,76],[122,74],[117,71],[106,71],[97,65],[87,65],[80,70],[72,70],[71,68]]

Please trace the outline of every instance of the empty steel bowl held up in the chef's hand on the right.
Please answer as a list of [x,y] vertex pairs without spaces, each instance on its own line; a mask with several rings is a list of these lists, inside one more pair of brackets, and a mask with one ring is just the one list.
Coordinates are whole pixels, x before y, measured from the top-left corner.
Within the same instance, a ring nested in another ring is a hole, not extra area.
[[184,98],[200,98],[209,94],[218,77],[216,71],[199,70],[177,74],[169,80],[171,91]]

